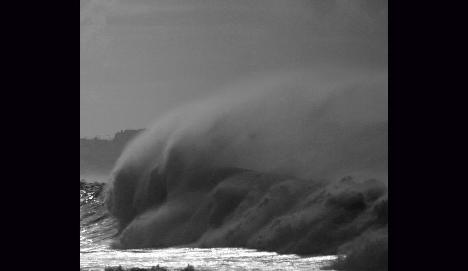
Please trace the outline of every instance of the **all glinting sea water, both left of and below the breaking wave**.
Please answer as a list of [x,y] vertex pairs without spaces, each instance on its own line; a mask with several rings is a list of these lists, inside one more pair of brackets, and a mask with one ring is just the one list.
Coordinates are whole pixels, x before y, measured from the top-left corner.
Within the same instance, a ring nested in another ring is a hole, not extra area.
[[334,255],[299,256],[247,248],[111,249],[118,224],[104,206],[105,184],[80,183],[80,268],[103,271],[106,266],[169,269],[188,264],[200,271],[313,271],[329,266]]

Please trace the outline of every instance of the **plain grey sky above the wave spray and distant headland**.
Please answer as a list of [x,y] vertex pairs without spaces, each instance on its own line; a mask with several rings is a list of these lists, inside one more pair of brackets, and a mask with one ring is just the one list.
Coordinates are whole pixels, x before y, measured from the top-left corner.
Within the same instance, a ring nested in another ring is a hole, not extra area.
[[388,67],[388,1],[80,0],[80,138],[328,62]]

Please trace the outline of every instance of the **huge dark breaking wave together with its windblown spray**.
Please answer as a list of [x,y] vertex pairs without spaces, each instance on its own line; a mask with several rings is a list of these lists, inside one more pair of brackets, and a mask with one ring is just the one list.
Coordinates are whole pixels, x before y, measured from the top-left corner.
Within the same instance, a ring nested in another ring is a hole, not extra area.
[[388,268],[388,73],[282,73],[227,93],[124,151],[105,199],[114,248],[379,253],[349,265]]

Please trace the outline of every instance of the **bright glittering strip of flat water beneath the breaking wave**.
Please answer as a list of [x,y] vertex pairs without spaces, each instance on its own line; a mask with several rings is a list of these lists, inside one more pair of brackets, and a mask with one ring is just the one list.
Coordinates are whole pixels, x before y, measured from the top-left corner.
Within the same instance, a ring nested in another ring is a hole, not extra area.
[[329,265],[334,259],[336,256],[301,257],[245,248],[97,249],[80,251],[80,268],[103,271],[106,266],[150,268],[159,264],[178,269],[190,264],[200,271],[313,271]]

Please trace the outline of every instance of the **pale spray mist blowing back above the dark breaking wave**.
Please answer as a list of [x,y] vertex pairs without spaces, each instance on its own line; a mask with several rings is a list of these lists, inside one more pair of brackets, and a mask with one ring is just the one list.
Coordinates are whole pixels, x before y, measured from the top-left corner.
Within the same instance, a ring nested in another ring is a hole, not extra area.
[[138,170],[146,171],[176,159],[180,168],[386,179],[388,74],[321,68],[263,75],[174,110],[127,148],[115,170],[140,157],[149,164]]

